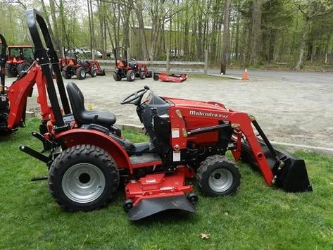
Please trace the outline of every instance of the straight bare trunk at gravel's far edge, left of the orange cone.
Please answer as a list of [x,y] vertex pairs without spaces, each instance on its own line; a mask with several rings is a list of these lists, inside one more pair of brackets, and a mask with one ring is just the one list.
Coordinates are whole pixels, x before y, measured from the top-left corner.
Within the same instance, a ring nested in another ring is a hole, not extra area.
[[225,0],[224,20],[223,20],[223,38],[222,38],[222,58],[220,73],[225,75],[227,71],[227,53],[229,44],[229,7],[230,0]]

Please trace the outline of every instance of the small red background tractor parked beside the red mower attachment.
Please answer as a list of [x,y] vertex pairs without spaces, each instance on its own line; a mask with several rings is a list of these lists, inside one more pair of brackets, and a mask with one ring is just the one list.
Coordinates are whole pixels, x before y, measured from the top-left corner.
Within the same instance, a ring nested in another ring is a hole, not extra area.
[[115,56],[115,71],[113,72],[113,79],[115,81],[126,78],[127,81],[133,82],[135,77],[144,79],[153,76],[153,73],[147,69],[145,63],[127,61],[127,51],[125,48],[118,47],[113,49],[113,55]]

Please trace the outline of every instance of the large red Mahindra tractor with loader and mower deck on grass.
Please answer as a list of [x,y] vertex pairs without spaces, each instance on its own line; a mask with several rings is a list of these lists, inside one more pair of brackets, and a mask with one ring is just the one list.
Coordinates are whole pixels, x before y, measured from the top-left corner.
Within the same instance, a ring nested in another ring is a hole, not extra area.
[[[103,208],[124,187],[123,207],[130,220],[166,210],[195,213],[195,181],[206,196],[237,192],[241,176],[235,161],[256,165],[268,186],[312,191],[303,159],[275,149],[252,115],[216,101],[158,96],[145,86],[120,104],[135,107],[149,142],[125,139],[114,113],[88,111],[79,87],[73,82],[64,86],[42,15],[36,10],[26,15],[36,63],[21,78],[26,85],[20,91],[37,84],[42,124],[32,135],[44,150],[20,150],[46,164],[48,175],[33,180],[47,180],[63,210]],[[14,104],[19,98],[8,97]]]

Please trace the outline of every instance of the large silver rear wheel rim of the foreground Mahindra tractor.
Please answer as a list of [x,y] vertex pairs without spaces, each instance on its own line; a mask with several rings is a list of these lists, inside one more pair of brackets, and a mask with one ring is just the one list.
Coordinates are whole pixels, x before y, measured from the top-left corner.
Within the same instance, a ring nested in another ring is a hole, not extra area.
[[68,168],[61,181],[65,196],[77,203],[88,203],[98,199],[105,185],[102,171],[90,163],[78,163]]

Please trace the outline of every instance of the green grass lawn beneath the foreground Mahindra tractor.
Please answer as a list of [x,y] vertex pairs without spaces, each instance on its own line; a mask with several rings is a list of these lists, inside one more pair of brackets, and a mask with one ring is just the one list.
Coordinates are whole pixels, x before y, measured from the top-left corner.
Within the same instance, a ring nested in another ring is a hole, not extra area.
[[[296,153],[306,159],[314,192],[267,187],[258,171],[239,164],[241,185],[234,196],[200,196],[194,215],[163,213],[133,223],[122,210],[121,191],[100,211],[67,213],[46,181],[30,182],[46,175],[46,166],[18,146],[40,148],[30,136],[37,127],[37,120],[28,120],[27,127],[0,137],[0,249],[333,249],[330,156]],[[209,239],[201,239],[202,232]]]

